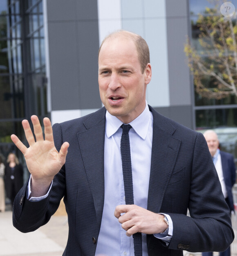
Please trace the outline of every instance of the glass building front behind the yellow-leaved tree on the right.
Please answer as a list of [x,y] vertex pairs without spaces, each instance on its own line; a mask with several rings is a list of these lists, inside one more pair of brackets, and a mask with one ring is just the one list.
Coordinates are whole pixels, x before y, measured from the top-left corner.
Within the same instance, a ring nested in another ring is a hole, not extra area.
[[[214,9],[215,1],[208,0],[189,0],[189,15],[190,15],[190,27],[191,27],[191,44],[197,51],[202,59],[208,61],[209,54],[215,54],[215,50],[207,48],[205,44],[200,44],[201,34],[200,27],[197,24],[199,15],[210,16],[210,12],[206,11],[206,8]],[[222,3],[222,2],[219,2]],[[233,0],[232,3],[237,7],[237,1]],[[218,10],[219,7],[217,7]],[[232,16],[232,23],[236,23],[236,15]],[[204,42],[208,43],[209,37],[202,38]],[[231,56],[232,53],[229,52]],[[217,56],[218,57],[218,56]],[[218,72],[218,71],[217,71]],[[203,75],[202,83],[206,88],[215,88],[215,79],[208,75]],[[194,85],[193,85],[194,86]],[[205,131],[207,129],[214,129],[220,140],[220,148],[223,151],[227,151],[235,155],[237,163],[237,96],[234,94],[228,94],[227,97],[216,99],[206,98],[194,92],[194,115],[195,115],[195,128],[198,131]]]

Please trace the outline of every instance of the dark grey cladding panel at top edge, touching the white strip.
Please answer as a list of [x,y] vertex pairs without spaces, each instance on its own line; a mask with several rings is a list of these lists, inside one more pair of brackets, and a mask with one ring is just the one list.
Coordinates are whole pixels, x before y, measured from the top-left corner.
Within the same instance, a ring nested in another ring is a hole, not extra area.
[[77,0],[76,17],[77,20],[97,20],[97,0]]

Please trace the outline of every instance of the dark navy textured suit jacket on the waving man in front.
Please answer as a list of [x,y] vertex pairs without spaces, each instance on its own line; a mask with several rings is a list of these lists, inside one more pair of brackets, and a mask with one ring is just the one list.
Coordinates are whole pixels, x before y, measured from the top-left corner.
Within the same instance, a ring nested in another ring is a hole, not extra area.
[[[154,121],[148,210],[168,213],[173,222],[168,247],[147,235],[149,256],[182,255],[183,249],[224,251],[234,233],[206,140],[201,133],[149,108]],[[95,254],[104,204],[105,112],[103,107],[85,117],[55,124],[56,148],[66,141],[70,146],[49,197],[28,201],[25,184],[14,203],[13,225],[30,232],[49,221],[64,197],[69,237],[63,255]],[[187,216],[188,209],[191,217]]]

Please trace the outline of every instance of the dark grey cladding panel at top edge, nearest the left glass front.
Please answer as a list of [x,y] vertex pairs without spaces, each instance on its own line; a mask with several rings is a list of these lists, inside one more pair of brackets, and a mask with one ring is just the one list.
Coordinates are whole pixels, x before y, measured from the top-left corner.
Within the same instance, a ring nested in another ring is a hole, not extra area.
[[48,22],[75,21],[78,0],[49,0],[47,2]]

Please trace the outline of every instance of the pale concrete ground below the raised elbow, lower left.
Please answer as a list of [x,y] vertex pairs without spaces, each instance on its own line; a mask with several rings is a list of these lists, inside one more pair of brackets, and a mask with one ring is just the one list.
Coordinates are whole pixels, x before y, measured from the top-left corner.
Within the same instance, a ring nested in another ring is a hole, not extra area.
[[67,244],[67,215],[58,210],[50,221],[31,233],[12,225],[11,206],[0,213],[0,256],[62,256]]

